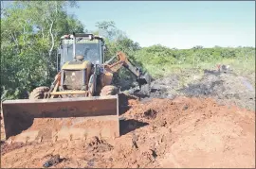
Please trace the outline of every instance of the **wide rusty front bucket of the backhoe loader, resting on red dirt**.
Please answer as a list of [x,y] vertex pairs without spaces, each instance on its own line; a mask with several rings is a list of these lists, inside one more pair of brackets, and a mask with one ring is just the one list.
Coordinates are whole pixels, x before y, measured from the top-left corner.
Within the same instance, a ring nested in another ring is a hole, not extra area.
[[119,96],[7,100],[2,104],[11,142],[119,137]]

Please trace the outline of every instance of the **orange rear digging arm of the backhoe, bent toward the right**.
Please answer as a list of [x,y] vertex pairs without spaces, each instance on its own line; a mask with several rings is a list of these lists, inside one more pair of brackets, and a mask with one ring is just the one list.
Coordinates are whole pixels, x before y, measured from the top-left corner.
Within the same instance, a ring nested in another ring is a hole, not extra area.
[[[117,58],[118,61],[109,64],[115,58]],[[143,75],[141,69],[137,68],[123,52],[118,52],[117,56],[104,63],[104,69],[112,74],[117,73],[122,66],[128,69],[133,75],[137,76],[139,87],[144,84],[150,84],[150,76],[148,74]]]

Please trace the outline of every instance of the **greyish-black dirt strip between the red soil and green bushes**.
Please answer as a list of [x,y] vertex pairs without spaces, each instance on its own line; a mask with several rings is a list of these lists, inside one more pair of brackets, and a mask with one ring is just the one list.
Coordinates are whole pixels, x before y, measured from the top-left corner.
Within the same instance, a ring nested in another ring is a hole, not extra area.
[[[142,96],[144,100],[151,98],[170,98],[184,95],[188,97],[211,97],[219,104],[234,104],[247,110],[255,110],[255,77],[254,80],[238,76],[233,72],[216,70],[186,70],[164,76],[152,82],[151,93]],[[138,89],[130,90],[135,94]],[[139,92],[137,92],[139,95]],[[143,94],[142,94],[143,95]]]

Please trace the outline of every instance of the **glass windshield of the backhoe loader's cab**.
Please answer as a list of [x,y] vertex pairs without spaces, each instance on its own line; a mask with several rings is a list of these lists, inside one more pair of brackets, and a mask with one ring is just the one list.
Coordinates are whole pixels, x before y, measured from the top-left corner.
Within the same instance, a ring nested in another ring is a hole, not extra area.
[[[73,40],[63,40],[61,66],[66,61],[73,60]],[[84,60],[89,60],[93,63],[100,63],[100,44],[98,40],[77,40],[76,56],[84,56]]]

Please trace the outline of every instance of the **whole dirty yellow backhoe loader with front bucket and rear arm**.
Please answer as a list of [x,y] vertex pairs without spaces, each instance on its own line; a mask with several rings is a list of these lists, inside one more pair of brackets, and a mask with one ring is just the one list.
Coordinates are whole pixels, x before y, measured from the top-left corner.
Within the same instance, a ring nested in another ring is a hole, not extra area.
[[112,85],[113,74],[123,66],[137,76],[139,87],[150,86],[150,76],[122,52],[105,61],[105,51],[101,36],[64,35],[51,86],[34,89],[29,99],[2,103],[6,139],[27,143],[119,137],[119,90]]

